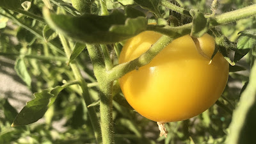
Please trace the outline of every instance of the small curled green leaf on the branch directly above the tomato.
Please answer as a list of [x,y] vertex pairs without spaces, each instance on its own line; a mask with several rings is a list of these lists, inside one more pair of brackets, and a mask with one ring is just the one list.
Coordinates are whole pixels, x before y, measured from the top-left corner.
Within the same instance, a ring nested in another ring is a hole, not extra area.
[[209,19],[206,19],[201,12],[195,12],[194,14],[190,35],[199,38],[207,33],[209,29]]

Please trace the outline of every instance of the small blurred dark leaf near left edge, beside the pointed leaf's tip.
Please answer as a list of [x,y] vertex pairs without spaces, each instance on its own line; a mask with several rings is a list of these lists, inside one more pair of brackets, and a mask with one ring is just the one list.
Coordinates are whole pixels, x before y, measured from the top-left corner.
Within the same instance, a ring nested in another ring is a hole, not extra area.
[[10,105],[10,103],[8,102],[8,100],[6,99],[4,102],[4,116],[5,119],[8,122],[12,122],[15,118],[15,116],[18,114],[16,109],[12,107],[12,105]]

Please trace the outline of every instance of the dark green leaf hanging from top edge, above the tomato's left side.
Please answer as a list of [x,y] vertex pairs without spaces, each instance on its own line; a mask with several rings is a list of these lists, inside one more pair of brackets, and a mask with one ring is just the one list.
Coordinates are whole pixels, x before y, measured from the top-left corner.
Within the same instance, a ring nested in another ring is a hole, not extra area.
[[161,17],[161,13],[158,8],[159,0],[134,0],[134,2],[139,4],[142,8],[155,13],[157,17]]

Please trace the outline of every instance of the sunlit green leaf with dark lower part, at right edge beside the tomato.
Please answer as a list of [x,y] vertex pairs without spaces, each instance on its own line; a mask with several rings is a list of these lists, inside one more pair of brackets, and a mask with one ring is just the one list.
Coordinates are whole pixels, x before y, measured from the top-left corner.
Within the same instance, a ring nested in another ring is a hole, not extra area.
[[241,31],[237,40],[237,51],[234,61],[237,62],[245,56],[253,47],[256,46],[256,29]]

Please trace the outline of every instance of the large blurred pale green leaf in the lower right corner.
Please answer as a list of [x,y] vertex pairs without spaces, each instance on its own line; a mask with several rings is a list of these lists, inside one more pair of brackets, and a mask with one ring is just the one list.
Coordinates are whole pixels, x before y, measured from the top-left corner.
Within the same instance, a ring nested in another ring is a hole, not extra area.
[[256,65],[252,67],[249,83],[241,95],[230,124],[227,144],[256,143]]

